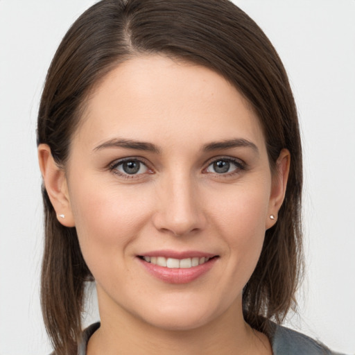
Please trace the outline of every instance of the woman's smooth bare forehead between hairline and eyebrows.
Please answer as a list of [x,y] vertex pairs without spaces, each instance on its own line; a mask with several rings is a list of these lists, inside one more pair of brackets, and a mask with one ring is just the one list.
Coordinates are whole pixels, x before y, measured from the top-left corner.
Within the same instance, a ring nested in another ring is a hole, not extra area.
[[223,76],[161,55],[119,64],[89,96],[74,141],[100,144],[117,136],[157,144],[243,136],[263,144],[259,119]]

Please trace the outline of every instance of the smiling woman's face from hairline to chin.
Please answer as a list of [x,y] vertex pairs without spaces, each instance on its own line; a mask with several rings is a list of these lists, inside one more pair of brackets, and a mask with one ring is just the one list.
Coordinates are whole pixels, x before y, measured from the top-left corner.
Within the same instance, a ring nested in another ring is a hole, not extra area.
[[101,317],[192,329],[241,310],[282,188],[222,76],[159,55],[120,64],[89,97],[66,177]]

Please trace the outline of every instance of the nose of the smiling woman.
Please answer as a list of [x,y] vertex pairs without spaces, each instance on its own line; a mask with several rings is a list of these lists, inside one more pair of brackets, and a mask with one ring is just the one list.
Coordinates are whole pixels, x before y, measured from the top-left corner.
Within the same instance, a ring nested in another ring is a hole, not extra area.
[[196,233],[205,228],[207,218],[197,183],[188,176],[167,178],[157,189],[155,228],[175,236]]

